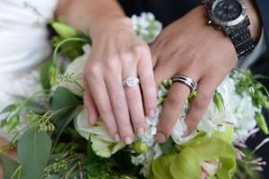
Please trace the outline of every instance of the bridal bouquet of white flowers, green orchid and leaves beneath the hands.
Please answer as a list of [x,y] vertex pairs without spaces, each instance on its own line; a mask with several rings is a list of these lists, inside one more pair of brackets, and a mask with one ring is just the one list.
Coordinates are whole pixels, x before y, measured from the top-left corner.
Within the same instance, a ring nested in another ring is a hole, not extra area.
[[[133,16],[134,30],[147,43],[161,32],[152,13]],[[147,131],[131,145],[112,140],[102,123],[88,124],[82,103],[82,72],[91,39],[60,22],[51,22],[54,54],[40,70],[43,91],[5,107],[1,127],[12,136],[1,148],[17,150],[18,160],[1,156],[4,179],[230,179],[259,178],[265,162],[246,141],[268,133],[263,110],[269,96],[261,75],[234,69],[215,91],[195,132],[184,136],[193,92],[178,116],[169,141],[154,141],[161,107],[171,86],[163,81],[158,115],[146,117]]]

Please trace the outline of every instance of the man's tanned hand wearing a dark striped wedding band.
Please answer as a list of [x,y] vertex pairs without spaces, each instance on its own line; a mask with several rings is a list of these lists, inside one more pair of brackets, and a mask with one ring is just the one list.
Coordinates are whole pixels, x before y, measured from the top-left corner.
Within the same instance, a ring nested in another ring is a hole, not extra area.
[[[163,30],[151,46],[157,85],[177,74],[198,82],[197,96],[192,100],[186,118],[186,134],[195,130],[216,88],[238,59],[230,38],[209,26],[205,15],[204,6],[196,7]],[[257,17],[251,15],[250,20],[254,19]],[[252,32],[258,31],[251,28]],[[157,141],[165,142],[169,138],[189,93],[183,83],[175,83],[170,88],[156,134]]]

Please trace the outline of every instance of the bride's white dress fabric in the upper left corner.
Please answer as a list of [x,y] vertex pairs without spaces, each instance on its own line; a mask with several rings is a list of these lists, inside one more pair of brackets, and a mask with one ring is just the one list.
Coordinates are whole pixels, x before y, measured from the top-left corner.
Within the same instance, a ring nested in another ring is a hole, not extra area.
[[[48,20],[57,0],[0,0],[0,111],[22,97],[41,91],[39,64],[51,53]],[[0,120],[4,116],[0,115]],[[16,130],[27,125],[22,115]],[[13,139],[13,133],[0,128],[0,137]]]

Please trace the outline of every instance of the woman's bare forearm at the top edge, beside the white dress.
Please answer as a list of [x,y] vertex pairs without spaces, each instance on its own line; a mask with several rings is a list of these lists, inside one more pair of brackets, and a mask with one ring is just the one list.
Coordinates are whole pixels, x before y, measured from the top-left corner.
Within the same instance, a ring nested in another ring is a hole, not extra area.
[[56,18],[89,34],[92,27],[126,15],[116,0],[60,0]]

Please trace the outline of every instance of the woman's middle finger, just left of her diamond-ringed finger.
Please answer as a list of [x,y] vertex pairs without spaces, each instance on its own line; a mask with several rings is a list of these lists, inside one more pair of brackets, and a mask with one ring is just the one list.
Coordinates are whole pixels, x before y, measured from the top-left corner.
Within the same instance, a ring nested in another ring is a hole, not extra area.
[[126,93],[123,87],[121,72],[112,70],[106,78],[108,86],[108,94],[113,108],[113,113],[116,118],[117,130],[121,139],[126,144],[131,144],[134,141],[134,132],[131,124],[131,119],[126,102]]

